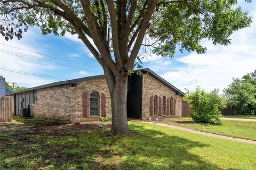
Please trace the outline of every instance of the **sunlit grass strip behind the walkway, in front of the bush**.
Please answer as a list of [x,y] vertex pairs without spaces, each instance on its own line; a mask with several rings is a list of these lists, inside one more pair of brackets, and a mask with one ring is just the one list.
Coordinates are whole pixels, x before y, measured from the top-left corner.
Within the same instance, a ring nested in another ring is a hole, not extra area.
[[256,122],[222,120],[222,125],[194,123],[191,118],[165,118],[161,123],[182,126],[203,132],[222,134],[229,137],[256,140]]

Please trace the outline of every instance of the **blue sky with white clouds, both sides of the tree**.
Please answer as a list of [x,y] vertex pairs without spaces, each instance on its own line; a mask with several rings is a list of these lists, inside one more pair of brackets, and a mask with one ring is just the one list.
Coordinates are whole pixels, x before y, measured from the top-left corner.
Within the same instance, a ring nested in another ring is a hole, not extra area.
[[[148,60],[143,61],[143,67],[149,67],[182,91],[185,88],[193,90],[196,85],[207,91],[214,88],[222,90],[232,81],[232,77],[242,77],[245,73],[252,72],[256,69],[256,2],[247,4],[241,0],[239,5],[242,5],[244,11],[249,11],[254,23],[250,28],[234,32],[230,45],[214,46],[210,41],[203,40],[202,44],[207,47],[206,54],[177,52],[172,59],[152,54],[147,57]],[[103,74],[98,62],[76,36],[42,36],[38,28],[30,27],[21,40],[5,41],[1,36],[0,43],[0,67],[54,77],[0,70],[0,75],[3,75],[6,81],[17,82],[19,86],[34,87],[65,79]],[[45,60],[46,63],[38,59]]]

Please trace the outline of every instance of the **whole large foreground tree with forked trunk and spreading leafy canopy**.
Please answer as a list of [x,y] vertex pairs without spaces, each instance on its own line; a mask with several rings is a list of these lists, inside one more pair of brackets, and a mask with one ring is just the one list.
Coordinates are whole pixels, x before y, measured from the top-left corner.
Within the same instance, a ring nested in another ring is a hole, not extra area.
[[[22,38],[28,25],[42,33],[77,34],[100,63],[111,97],[113,134],[128,134],[127,77],[141,47],[164,57],[175,48],[205,53],[207,38],[227,45],[229,36],[249,27],[251,18],[237,1],[207,0],[0,0],[1,34],[6,40]],[[250,2],[250,1],[247,1]],[[93,40],[91,43],[90,39]],[[114,57],[112,57],[112,54]]]

